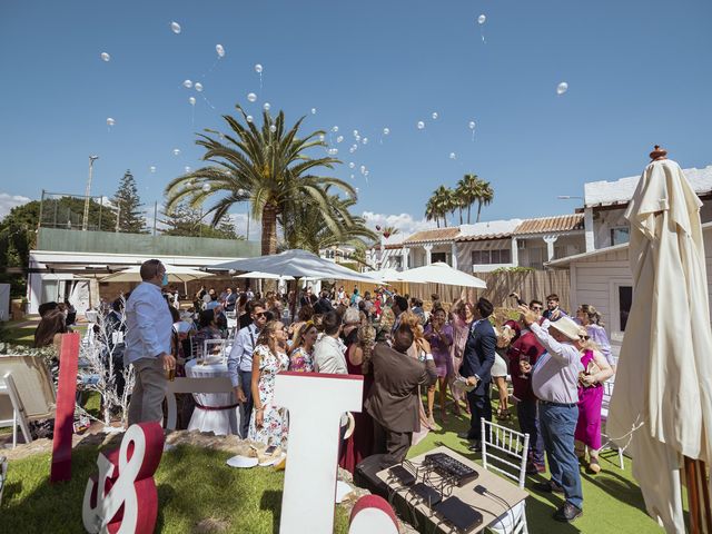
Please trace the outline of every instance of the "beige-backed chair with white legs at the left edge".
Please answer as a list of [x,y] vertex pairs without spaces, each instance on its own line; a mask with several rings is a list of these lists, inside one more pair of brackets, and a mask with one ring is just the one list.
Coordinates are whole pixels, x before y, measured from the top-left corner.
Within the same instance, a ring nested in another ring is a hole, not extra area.
[[1,356],[0,426],[12,425],[12,446],[18,426],[24,443],[31,443],[30,422],[50,419],[55,411],[55,385],[44,362],[36,356]]

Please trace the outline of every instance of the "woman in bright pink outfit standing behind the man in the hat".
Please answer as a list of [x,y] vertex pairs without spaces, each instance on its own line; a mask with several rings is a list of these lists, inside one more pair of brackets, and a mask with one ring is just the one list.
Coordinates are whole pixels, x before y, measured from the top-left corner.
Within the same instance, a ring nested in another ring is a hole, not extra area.
[[574,439],[578,461],[585,465],[587,448],[586,471],[596,474],[601,471],[599,449],[601,448],[603,383],[613,376],[613,369],[597,345],[589,339],[585,328],[581,329],[581,334],[583,342],[578,344],[578,349],[584,370],[578,376],[578,422]]

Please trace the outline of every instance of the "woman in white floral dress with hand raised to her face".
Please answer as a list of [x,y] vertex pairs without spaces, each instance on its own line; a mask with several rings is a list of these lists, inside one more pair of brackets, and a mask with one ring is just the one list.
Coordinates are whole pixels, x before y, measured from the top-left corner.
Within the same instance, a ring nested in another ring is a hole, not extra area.
[[287,328],[280,320],[270,320],[257,338],[253,353],[253,398],[255,407],[249,421],[248,439],[267,446],[287,448],[287,411],[273,404],[275,376],[287,370],[285,354]]

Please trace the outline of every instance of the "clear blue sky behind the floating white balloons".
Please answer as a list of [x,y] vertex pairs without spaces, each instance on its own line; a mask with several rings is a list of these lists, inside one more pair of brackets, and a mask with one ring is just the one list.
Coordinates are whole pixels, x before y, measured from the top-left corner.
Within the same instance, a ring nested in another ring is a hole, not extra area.
[[[495,189],[485,219],[570,212],[580,201],[557,195],[639,174],[654,142],[683,167],[712,164],[711,18],[703,0],[6,0],[0,202],[83,194],[90,154],[92,192],[111,196],[130,168],[144,201],[160,201],[200,165],[197,131],[221,128],[236,102],[258,115],[269,101],[290,120],[308,115],[306,128],[339,127],[335,175],[355,175],[357,208],[374,220],[419,220],[433,189],[467,171]],[[354,129],[369,142],[350,155]]]

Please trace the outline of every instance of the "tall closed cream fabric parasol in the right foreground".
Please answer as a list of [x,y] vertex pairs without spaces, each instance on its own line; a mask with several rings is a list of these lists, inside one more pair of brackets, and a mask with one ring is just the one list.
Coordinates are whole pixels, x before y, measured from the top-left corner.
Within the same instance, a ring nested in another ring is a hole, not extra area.
[[712,332],[702,202],[680,166],[655,148],[625,214],[633,303],[606,433],[627,445],[647,513],[668,532],[685,532],[683,456],[692,464],[712,461]]

